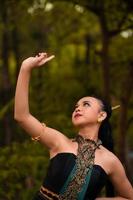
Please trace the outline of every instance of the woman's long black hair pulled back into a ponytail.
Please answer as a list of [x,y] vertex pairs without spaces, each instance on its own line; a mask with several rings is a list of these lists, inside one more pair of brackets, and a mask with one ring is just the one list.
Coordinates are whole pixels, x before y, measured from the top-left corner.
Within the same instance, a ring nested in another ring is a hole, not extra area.
[[[102,141],[102,145],[105,148],[114,153],[114,142],[113,142],[112,128],[110,124],[110,117],[112,115],[111,105],[101,97],[97,96],[92,96],[92,97],[96,98],[101,103],[101,110],[105,111],[107,114],[107,117],[102,121],[101,126],[99,128],[98,138]],[[106,196],[113,197],[114,187],[109,179],[107,180],[105,187],[106,187]]]

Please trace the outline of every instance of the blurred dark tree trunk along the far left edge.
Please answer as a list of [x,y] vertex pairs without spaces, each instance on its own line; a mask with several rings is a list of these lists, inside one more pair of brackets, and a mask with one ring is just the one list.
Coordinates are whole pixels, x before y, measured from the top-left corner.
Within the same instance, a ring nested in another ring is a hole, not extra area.
[[[2,105],[8,103],[11,98],[11,82],[9,75],[9,32],[8,32],[8,16],[6,2],[3,1],[2,9],[2,22],[3,22],[3,35],[2,35]],[[5,130],[5,144],[8,145],[11,142],[12,131],[10,127],[10,115],[7,113],[3,119],[3,126]]]

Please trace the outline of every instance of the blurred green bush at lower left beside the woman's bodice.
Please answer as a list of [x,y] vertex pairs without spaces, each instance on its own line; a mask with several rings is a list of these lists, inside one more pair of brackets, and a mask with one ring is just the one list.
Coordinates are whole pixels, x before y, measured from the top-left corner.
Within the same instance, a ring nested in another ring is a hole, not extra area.
[[46,173],[48,152],[29,141],[0,151],[1,200],[32,199]]

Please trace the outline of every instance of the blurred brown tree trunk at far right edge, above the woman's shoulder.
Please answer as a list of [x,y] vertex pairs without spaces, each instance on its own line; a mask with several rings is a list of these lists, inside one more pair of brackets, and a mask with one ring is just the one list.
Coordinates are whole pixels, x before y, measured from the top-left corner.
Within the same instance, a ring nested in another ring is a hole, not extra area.
[[[120,112],[120,122],[118,131],[118,156],[122,163],[126,166],[127,170],[128,162],[126,159],[126,135],[128,129],[128,105],[132,95],[132,85],[133,85],[133,63],[130,63],[129,71],[126,79],[124,80],[121,88],[121,112]],[[130,172],[128,171],[128,174]]]

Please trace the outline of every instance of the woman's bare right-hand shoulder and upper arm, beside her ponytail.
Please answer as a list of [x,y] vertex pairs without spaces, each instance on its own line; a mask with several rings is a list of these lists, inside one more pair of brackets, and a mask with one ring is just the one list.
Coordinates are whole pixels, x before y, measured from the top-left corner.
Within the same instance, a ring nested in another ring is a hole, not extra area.
[[119,158],[105,147],[100,146],[99,155],[104,169],[109,176],[118,196],[125,199],[133,199],[133,188],[129,182],[125,169]]

